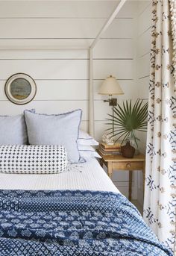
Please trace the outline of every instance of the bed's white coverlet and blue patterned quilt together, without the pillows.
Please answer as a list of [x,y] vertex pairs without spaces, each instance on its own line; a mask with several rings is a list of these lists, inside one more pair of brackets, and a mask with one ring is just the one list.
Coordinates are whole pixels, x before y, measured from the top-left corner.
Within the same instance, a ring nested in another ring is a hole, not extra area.
[[0,255],[172,255],[93,157],[0,188]]

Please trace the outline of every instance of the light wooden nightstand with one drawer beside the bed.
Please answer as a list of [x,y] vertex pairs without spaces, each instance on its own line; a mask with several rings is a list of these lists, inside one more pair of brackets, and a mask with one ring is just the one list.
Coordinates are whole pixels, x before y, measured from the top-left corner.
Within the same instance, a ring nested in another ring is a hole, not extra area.
[[101,155],[100,164],[103,166],[107,166],[107,174],[111,178],[113,175],[113,171],[129,171],[129,200],[131,201],[131,193],[132,193],[132,178],[133,171],[140,170],[143,172],[143,187],[145,184],[145,155],[138,154],[133,158],[125,158],[119,154],[110,154],[103,155],[98,151],[98,154]]

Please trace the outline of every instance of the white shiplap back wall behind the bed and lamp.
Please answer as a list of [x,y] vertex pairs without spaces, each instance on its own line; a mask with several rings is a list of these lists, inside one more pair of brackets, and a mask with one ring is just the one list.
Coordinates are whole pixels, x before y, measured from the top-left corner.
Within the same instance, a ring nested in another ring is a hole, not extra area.
[[[21,113],[32,107],[41,113],[81,108],[82,128],[87,130],[89,59],[84,48],[90,45],[117,3],[0,1],[0,114]],[[93,50],[95,137],[98,140],[106,128],[104,119],[111,111],[108,104],[102,101],[106,97],[98,95],[103,79],[107,75],[115,75],[119,79],[125,92],[124,96],[117,97],[119,102],[136,99],[139,93],[134,45],[138,5],[139,1],[125,3]],[[145,19],[148,17],[145,16]],[[143,28],[140,31],[142,34]],[[70,46],[74,46],[75,50],[66,50]],[[77,47],[83,49],[76,50]],[[12,104],[4,94],[5,81],[16,72],[31,75],[37,83],[37,96],[24,106]],[[142,69],[140,74],[145,76],[147,71]],[[145,79],[141,81],[145,83]],[[120,190],[127,195],[128,172],[120,173],[114,179],[118,180]],[[136,199],[136,178],[134,185],[133,198]]]

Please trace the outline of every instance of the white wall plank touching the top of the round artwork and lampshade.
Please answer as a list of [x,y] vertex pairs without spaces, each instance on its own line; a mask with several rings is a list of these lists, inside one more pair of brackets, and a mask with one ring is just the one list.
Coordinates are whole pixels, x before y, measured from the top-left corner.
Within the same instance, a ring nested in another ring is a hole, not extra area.
[[[87,79],[88,60],[0,60],[1,79],[25,72],[34,79]],[[133,60],[94,60],[94,78],[133,78]]]

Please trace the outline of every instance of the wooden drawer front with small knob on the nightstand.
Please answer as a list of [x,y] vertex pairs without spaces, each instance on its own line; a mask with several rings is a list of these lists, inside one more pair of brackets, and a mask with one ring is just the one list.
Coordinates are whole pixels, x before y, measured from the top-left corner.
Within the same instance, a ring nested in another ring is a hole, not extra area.
[[125,161],[125,162],[113,162],[113,169],[125,169],[125,170],[141,170],[143,169],[143,162],[131,162],[131,161]]

